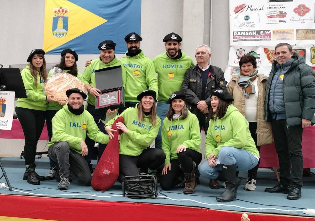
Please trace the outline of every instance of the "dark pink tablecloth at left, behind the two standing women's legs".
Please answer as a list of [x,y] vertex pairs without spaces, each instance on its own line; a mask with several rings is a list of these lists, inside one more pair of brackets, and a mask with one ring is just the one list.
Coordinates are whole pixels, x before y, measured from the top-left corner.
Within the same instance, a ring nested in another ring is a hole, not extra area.
[[[0,138],[24,140],[25,137],[24,137],[24,133],[23,133],[20,121],[18,119],[13,119],[12,129],[11,130],[1,130],[0,131]],[[41,136],[39,137],[39,140],[48,140],[46,122],[45,122],[45,125],[43,128],[43,132],[42,132]]]

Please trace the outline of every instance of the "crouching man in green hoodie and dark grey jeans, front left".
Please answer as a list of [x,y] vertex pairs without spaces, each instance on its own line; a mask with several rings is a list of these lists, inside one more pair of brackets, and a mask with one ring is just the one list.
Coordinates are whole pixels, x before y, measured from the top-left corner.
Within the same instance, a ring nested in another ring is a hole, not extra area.
[[48,143],[49,157],[59,165],[58,189],[66,190],[71,178],[82,186],[91,184],[89,165],[83,156],[88,154],[85,136],[96,142],[107,144],[109,135],[100,132],[93,116],[84,109],[86,94],[73,88],[66,91],[68,103],[52,119],[53,136]]

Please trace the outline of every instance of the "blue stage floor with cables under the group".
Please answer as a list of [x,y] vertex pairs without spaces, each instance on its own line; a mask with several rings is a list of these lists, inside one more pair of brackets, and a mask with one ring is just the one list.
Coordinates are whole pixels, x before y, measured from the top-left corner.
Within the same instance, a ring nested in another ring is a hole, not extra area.
[[[95,191],[92,187],[80,186],[75,181],[71,183],[69,189],[66,191],[58,190],[58,182],[55,180],[41,181],[40,185],[30,185],[26,181],[22,180],[25,170],[24,159],[20,159],[19,157],[3,157],[1,158],[1,162],[14,191],[9,191],[8,188],[1,188],[0,194],[156,203],[179,206],[196,206],[227,211],[276,213],[298,216],[310,216],[303,214],[303,209],[315,209],[314,175],[303,178],[304,186],[302,188],[302,198],[300,200],[287,200],[286,194],[271,194],[264,192],[265,188],[272,187],[277,182],[272,170],[258,170],[257,188],[255,191],[244,190],[246,172],[240,172],[239,176],[242,177],[242,185],[238,188],[237,200],[229,203],[218,203],[215,200],[215,197],[224,192],[224,189],[210,189],[209,180],[206,180],[203,177],[201,177],[201,184],[196,187],[194,194],[183,194],[183,188],[174,188],[171,191],[163,191],[158,186],[159,193],[157,198],[130,199],[122,196],[121,184],[119,182],[116,182],[114,186],[106,192]],[[39,175],[44,176],[49,171],[48,158],[36,158],[36,164],[36,171]],[[311,171],[315,172],[314,169]],[[0,180],[0,182],[6,183],[4,177]]]

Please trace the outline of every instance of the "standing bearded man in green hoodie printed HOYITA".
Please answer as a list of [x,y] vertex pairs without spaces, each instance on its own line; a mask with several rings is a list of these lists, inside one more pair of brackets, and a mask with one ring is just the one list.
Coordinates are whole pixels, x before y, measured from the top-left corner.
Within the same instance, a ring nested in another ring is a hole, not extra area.
[[161,127],[155,139],[155,148],[162,148],[161,129],[169,105],[166,102],[171,94],[179,91],[186,71],[194,66],[192,58],[180,50],[181,37],[172,32],[164,39],[166,52],[153,59],[158,81],[157,116],[161,118]]

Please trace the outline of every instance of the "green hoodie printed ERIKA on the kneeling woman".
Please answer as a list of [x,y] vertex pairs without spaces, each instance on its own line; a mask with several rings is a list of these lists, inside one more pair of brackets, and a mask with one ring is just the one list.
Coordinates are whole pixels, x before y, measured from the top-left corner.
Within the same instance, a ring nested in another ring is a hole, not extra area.
[[165,164],[169,164],[170,160],[178,158],[176,149],[182,144],[187,146],[188,149],[201,153],[198,118],[189,110],[187,112],[188,115],[185,119],[180,116],[172,120],[165,117],[163,120],[162,150],[166,155]]

